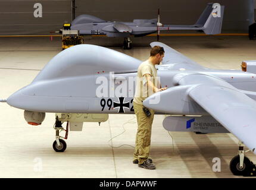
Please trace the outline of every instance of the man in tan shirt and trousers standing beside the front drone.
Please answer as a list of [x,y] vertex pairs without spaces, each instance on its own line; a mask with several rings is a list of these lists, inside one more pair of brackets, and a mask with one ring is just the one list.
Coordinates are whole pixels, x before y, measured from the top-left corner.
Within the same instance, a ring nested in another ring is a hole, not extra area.
[[152,159],[148,159],[154,110],[149,109],[151,115],[147,116],[143,111],[142,102],[148,96],[158,91],[166,90],[166,88],[161,88],[157,80],[157,69],[155,68],[155,65],[159,65],[163,58],[164,48],[160,46],[152,47],[149,59],[139,65],[135,96],[133,98],[133,108],[138,122],[133,163],[138,163],[139,167],[145,169],[155,169]]

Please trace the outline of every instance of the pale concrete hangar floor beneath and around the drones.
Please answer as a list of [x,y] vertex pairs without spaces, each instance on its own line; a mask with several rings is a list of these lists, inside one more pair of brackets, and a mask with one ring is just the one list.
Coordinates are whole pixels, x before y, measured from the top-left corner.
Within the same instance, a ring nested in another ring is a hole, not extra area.
[[[116,41],[115,41],[116,40]],[[85,43],[107,46],[145,60],[149,43],[156,37],[132,38],[132,50],[123,50],[123,39],[86,38]],[[240,69],[243,60],[256,59],[255,40],[248,37],[161,37],[194,61],[209,68]],[[0,97],[29,84],[45,64],[61,51],[61,39],[54,37],[0,38]],[[110,115],[101,126],[84,124],[82,132],[70,132],[67,150],[56,153],[54,114],[47,113],[41,126],[27,125],[23,110],[0,103],[0,178],[243,178],[233,176],[230,160],[238,153],[232,134],[168,132],[164,116],[155,116],[152,126],[151,157],[156,170],[132,163],[135,144],[135,115]],[[125,129],[125,132],[118,137]],[[115,137],[113,140],[111,138]],[[125,144],[125,145],[123,145]],[[113,148],[119,147],[119,148]],[[129,146],[130,145],[130,146]],[[246,156],[256,163],[251,152]],[[221,160],[221,172],[213,172],[213,159]]]

